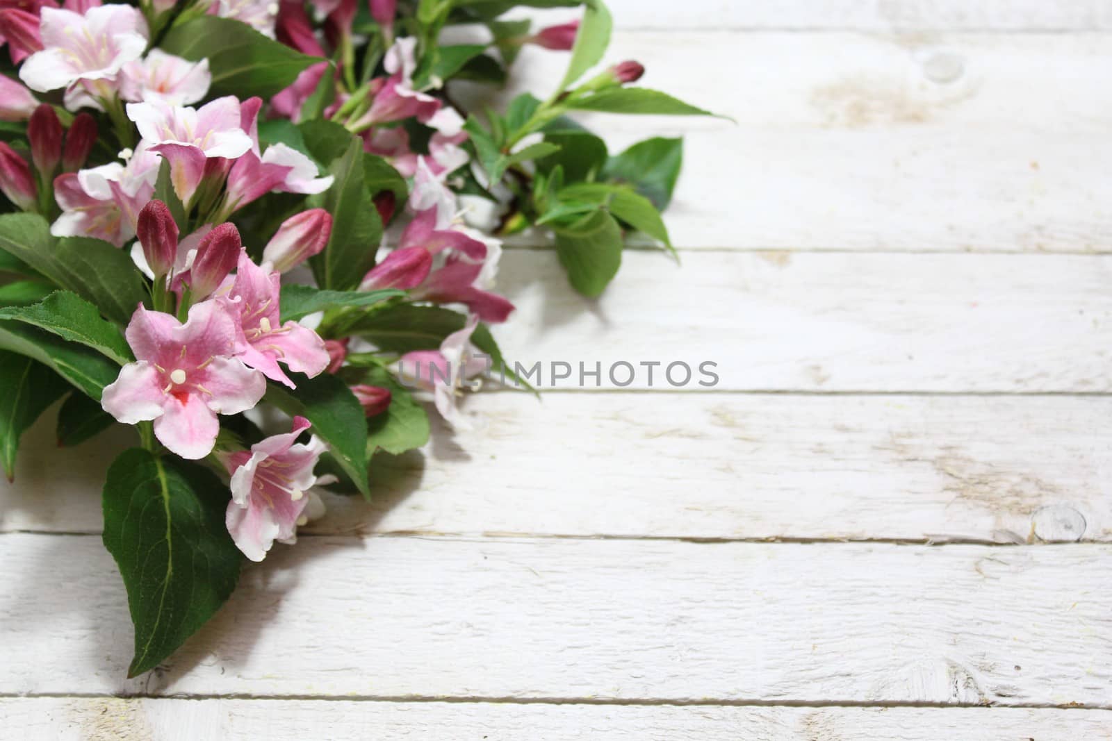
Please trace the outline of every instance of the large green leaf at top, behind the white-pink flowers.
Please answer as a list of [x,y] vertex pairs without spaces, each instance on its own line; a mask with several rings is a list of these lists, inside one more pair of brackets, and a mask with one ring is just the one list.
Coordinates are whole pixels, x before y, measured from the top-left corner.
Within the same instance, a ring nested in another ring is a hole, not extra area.
[[190,61],[209,60],[210,98],[268,99],[292,84],[309,66],[324,61],[268,39],[247,23],[215,16],[175,26],[159,46]]

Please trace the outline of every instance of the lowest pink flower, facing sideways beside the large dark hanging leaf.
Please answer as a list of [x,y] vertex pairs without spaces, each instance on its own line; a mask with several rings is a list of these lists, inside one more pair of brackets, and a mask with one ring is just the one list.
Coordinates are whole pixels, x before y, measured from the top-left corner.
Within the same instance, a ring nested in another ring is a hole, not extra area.
[[261,561],[275,540],[294,543],[298,525],[322,510],[310,489],[325,483],[312,469],[327,450],[316,435],[307,444],[295,442],[309,428],[304,417],[295,417],[292,430],[271,435],[241,450],[221,455],[231,474],[231,501],[226,524],[236,547],[252,561]]

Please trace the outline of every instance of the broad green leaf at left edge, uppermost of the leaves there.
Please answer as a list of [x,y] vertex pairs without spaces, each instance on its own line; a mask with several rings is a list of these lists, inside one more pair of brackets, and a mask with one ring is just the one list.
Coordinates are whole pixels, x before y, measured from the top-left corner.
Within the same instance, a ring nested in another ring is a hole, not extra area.
[[128,323],[147,296],[142,276],[127,252],[99,239],[54,239],[46,219],[33,213],[0,217],[0,249],[96,304],[119,324]]

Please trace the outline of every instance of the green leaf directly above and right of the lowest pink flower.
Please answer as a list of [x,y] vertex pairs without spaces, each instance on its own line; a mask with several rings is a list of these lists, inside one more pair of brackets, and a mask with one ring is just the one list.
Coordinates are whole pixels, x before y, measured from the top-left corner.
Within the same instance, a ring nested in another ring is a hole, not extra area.
[[367,423],[359,400],[344,381],[329,373],[310,379],[290,372],[289,377],[297,384],[296,393],[278,383],[270,383],[267,401],[287,414],[300,414],[312,422],[312,432],[328,443],[344,471],[369,498]]

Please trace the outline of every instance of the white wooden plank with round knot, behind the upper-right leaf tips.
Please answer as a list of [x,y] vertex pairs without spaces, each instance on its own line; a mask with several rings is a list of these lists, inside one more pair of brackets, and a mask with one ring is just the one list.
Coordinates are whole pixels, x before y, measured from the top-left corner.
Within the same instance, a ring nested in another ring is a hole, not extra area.
[[[583,117],[615,151],[686,137],[681,249],[1110,249],[1108,34],[631,32],[612,57],[737,121]],[[527,53],[503,100],[564,63]]]

